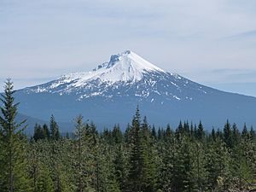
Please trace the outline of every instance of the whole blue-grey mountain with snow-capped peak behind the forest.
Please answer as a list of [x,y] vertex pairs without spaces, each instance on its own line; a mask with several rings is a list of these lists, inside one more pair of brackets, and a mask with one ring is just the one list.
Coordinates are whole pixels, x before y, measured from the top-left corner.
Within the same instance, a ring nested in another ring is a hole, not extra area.
[[100,128],[117,123],[124,127],[137,105],[155,125],[175,127],[180,119],[194,123],[201,119],[207,129],[224,125],[226,119],[256,125],[255,97],[197,84],[130,50],[112,55],[91,72],[63,75],[15,94],[20,113],[42,120],[54,114],[55,119],[69,123],[81,113]]

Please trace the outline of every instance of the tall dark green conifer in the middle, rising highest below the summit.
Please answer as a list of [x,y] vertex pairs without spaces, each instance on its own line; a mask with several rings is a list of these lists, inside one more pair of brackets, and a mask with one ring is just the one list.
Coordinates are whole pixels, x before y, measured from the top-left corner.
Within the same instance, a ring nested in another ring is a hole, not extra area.
[[[138,108],[132,120],[131,132],[128,191],[154,191],[156,186],[154,137],[151,135],[146,117],[143,119],[143,124],[141,124]],[[162,134],[160,135],[162,137]]]

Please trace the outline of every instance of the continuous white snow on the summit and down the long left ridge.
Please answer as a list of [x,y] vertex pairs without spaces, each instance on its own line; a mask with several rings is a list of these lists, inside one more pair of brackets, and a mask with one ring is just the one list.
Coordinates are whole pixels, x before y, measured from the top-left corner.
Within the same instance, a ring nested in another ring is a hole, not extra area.
[[[108,62],[104,62],[90,72],[66,74],[48,84],[40,84],[26,89],[38,93],[59,92],[64,94],[79,88],[88,88],[90,83],[95,81],[99,85],[134,84],[142,80],[146,73],[167,74],[163,69],[154,66],[131,50],[126,50],[121,54],[112,55]],[[177,74],[171,75],[180,79]]]

